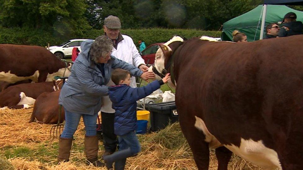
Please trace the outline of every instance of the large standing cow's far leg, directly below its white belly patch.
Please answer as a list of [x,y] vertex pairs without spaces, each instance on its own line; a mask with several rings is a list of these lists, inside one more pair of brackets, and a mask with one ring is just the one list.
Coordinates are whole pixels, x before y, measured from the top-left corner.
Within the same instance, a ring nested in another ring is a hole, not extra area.
[[218,159],[218,170],[227,170],[228,162],[233,152],[226,147],[221,146],[216,148],[216,157]]

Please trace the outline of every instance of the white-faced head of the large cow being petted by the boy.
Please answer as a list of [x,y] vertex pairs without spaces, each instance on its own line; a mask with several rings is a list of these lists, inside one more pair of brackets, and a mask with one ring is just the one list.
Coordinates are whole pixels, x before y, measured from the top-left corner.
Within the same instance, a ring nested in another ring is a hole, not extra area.
[[[174,36],[170,41],[167,41],[156,52],[155,66],[153,72],[156,74],[156,79],[160,80],[166,73],[170,72],[170,65],[173,64],[172,54],[183,43],[183,38]],[[170,81],[169,85],[175,87]]]

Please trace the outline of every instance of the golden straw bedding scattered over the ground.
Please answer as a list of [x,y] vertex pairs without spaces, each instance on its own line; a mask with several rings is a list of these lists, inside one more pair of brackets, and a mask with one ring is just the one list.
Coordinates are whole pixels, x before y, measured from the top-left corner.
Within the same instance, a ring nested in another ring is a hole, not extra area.
[[[6,163],[6,169],[105,169],[85,164],[83,151],[85,131],[82,120],[74,136],[75,145],[71,150],[70,162],[58,164],[56,160],[58,140],[56,137],[49,137],[52,124],[28,123],[32,111],[32,108],[0,110],[0,170],[4,167],[2,162]],[[179,124],[172,124],[158,133],[139,135],[138,138],[142,151],[138,156],[127,159],[126,169],[197,169]],[[30,154],[7,154],[7,150],[20,147],[28,148]],[[102,142],[99,142],[99,155],[102,153]],[[210,151],[209,169],[217,169],[214,150]],[[261,168],[233,155],[228,169]]]

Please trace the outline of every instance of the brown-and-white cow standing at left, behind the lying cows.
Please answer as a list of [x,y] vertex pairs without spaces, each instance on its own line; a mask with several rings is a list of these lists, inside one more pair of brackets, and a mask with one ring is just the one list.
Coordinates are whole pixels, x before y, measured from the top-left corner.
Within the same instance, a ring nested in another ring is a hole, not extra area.
[[0,44],[0,61],[0,81],[9,83],[52,81],[54,76],[70,75],[70,64],[40,46]]

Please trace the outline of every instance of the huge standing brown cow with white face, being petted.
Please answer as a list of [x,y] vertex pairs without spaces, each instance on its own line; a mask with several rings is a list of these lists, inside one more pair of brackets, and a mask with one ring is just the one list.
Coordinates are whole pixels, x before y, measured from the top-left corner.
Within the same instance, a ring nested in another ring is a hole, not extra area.
[[167,70],[176,84],[198,169],[208,169],[209,147],[218,169],[227,169],[228,150],[263,168],[303,169],[301,46],[303,35],[243,43],[174,37],[159,48],[155,72]]

